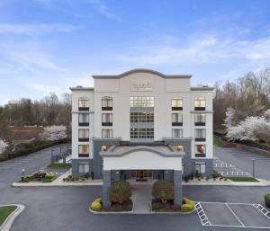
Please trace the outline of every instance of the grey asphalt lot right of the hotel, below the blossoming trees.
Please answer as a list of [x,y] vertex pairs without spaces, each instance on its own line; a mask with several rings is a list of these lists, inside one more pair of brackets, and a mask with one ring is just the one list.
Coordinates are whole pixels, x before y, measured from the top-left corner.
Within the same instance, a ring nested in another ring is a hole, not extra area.
[[270,156],[247,152],[235,147],[214,147],[214,156],[250,175],[252,175],[252,159],[254,158],[256,177],[270,181]]

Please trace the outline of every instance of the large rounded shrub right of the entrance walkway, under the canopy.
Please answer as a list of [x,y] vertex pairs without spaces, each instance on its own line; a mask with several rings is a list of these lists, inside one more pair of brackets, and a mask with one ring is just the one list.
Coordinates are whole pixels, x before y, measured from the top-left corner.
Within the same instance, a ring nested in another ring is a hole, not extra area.
[[175,190],[172,180],[160,180],[154,183],[152,196],[155,199],[161,200],[163,203],[166,200],[174,200]]

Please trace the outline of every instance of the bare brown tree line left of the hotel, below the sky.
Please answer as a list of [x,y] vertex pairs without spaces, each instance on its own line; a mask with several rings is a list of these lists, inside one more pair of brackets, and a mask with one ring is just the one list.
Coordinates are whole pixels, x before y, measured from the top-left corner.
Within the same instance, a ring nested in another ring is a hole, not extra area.
[[71,94],[64,93],[61,99],[49,93],[41,100],[23,98],[0,106],[0,138],[6,139],[9,126],[51,126],[71,123]]

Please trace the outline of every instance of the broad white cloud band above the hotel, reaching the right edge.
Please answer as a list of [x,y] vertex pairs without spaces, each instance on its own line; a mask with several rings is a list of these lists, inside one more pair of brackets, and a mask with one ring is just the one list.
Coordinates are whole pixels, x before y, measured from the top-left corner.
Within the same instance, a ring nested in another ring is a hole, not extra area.
[[198,36],[186,43],[160,43],[133,46],[117,56],[126,63],[146,65],[224,64],[235,60],[253,64],[267,63],[270,59],[270,37],[258,40],[233,40],[215,35]]

